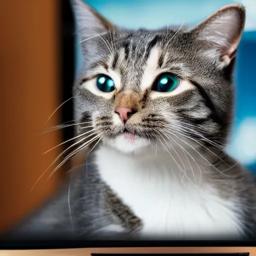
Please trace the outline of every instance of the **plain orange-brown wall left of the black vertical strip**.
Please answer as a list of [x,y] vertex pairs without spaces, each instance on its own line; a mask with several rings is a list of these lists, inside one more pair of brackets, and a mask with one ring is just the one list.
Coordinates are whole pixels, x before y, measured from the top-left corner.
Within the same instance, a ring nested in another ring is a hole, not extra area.
[[56,187],[47,182],[59,152],[59,132],[38,135],[59,123],[59,0],[2,0],[0,6],[0,232]]

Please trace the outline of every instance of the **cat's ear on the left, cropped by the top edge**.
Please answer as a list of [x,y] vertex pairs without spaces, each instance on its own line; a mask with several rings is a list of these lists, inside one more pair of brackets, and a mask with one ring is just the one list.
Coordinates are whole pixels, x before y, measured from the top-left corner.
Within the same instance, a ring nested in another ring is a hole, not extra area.
[[114,25],[82,0],[70,0],[83,52],[92,53],[96,47],[106,47],[102,37],[109,36]]

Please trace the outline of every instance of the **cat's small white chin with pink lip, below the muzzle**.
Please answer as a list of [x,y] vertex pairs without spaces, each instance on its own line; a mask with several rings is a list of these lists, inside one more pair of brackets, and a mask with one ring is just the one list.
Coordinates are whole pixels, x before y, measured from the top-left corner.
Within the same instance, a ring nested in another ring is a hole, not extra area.
[[107,144],[122,153],[140,153],[151,144],[148,138],[143,138],[131,133],[123,133],[116,138],[107,139]]

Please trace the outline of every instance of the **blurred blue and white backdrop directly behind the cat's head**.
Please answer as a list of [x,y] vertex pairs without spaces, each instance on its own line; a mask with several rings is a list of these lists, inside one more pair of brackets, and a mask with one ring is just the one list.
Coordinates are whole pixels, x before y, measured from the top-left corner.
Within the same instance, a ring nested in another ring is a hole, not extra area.
[[[195,25],[219,7],[242,3],[246,8],[245,31],[235,69],[236,104],[227,151],[256,173],[256,2],[253,0],[85,0],[103,16],[125,28],[159,28]],[[76,44],[76,73],[81,53]]]

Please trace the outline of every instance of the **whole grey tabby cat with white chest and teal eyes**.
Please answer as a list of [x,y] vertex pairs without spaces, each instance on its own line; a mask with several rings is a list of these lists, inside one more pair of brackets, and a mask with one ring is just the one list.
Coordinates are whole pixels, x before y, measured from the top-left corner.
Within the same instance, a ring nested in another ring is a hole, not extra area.
[[255,237],[254,177],[224,150],[244,7],[223,6],[193,28],[127,30],[71,4],[84,62],[68,157],[90,153],[10,237]]

